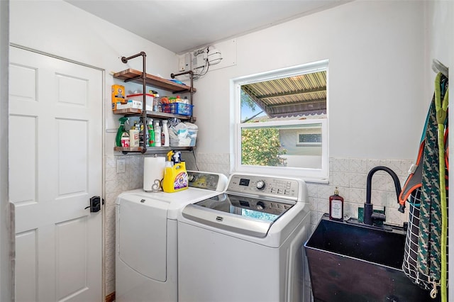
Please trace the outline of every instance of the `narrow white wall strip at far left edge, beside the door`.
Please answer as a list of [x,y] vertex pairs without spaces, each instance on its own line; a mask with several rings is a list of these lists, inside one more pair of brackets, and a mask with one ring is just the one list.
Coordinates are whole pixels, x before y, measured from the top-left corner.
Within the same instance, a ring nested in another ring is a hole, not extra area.
[[0,301],[11,301],[10,213],[8,199],[9,1],[0,1]]

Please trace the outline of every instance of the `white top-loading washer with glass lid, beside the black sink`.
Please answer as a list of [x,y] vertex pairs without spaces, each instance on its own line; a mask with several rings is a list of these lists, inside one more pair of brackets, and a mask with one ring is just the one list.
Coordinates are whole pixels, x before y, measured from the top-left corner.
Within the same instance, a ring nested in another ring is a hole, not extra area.
[[177,220],[179,301],[304,301],[310,214],[301,179],[232,174],[225,192]]

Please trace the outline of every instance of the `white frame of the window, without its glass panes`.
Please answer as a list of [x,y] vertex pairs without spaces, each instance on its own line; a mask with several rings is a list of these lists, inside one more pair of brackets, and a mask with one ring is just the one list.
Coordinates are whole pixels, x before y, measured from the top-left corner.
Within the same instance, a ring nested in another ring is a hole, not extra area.
[[[262,123],[241,123],[240,89],[245,84],[265,82],[271,79],[292,77],[299,74],[326,71],[326,118],[307,118],[292,121],[270,121]],[[252,74],[245,77],[231,79],[231,172],[273,174],[291,177],[301,177],[308,181],[326,183],[328,181],[328,60],[321,60],[304,65],[277,69],[271,72]],[[296,167],[267,167],[241,164],[241,130],[243,128],[263,128],[278,125],[310,125],[321,124],[321,169]]]

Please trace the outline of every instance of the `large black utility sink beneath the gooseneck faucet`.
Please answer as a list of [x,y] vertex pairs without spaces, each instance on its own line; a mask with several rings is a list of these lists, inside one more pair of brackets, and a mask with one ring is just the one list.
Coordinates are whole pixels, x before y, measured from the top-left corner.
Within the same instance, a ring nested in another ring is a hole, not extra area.
[[348,221],[325,214],[304,245],[314,301],[439,301],[402,270],[403,228]]

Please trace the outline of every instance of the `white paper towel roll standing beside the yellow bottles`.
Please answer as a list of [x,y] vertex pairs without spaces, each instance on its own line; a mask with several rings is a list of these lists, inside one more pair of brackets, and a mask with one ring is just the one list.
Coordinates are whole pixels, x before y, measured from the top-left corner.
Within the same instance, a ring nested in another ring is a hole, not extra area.
[[145,157],[143,159],[143,190],[162,191],[161,180],[164,177],[165,157]]

